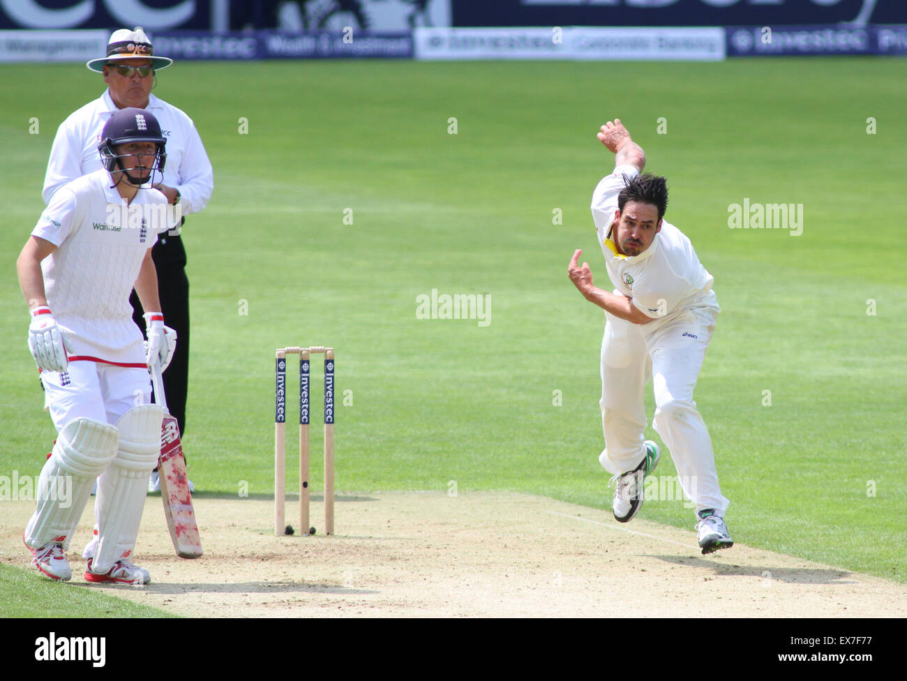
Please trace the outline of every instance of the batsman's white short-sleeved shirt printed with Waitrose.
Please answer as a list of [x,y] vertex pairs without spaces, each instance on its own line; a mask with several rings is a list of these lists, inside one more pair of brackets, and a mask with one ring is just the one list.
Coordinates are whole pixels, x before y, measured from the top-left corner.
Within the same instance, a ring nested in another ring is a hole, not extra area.
[[71,359],[144,366],[129,296],[146,251],[168,229],[167,199],[141,189],[127,205],[112,183],[107,170],[96,170],[63,185],[32,236],[57,247],[41,269]]

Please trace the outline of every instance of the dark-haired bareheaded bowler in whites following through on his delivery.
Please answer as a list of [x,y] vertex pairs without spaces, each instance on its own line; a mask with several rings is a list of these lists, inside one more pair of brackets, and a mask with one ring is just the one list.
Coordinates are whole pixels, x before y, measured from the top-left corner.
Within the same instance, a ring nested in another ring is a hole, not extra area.
[[613,293],[596,287],[581,250],[568,274],[580,293],[605,310],[601,342],[601,420],[605,449],[599,456],[612,474],[614,518],[639,512],[645,479],[658,465],[658,445],[645,440],[643,389],[655,392],[652,425],[668,445],[680,485],[695,504],[697,538],[704,554],[733,546],[724,520],[715,453],[693,401],[706,348],[719,311],[715,279],[699,263],[690,240],[664,220],[668,185],[640,174],[642,148],[614,119],[599,141],[614,154],[614,171],[592,193],[592,218]]

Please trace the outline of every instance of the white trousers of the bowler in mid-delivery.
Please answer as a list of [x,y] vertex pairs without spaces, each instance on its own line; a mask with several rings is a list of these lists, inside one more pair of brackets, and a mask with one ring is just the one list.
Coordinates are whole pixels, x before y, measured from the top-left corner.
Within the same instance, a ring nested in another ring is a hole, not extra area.
[[712,441],[693,401],[717,308],[687,308],[647,325],[605,314],[600,405],[606,447],[599,462],[612,475],[642,462],[648,423],[643,390],[652,378],[652,426],[668,445],[683,491],[697,512],[715,509],[723,516],[729,501],[721,494]]

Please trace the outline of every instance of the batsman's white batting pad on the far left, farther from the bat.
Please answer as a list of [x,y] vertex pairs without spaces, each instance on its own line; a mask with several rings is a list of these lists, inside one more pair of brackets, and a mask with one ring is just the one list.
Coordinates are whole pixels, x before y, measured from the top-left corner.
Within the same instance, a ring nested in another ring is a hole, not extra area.
[[38,479],[38,505],[24,533],[28,546],[38,549],[59,541],[63,550],[69,549],[94,479],[113,461],[119,439],[112,425],[90,418],[63,426]]

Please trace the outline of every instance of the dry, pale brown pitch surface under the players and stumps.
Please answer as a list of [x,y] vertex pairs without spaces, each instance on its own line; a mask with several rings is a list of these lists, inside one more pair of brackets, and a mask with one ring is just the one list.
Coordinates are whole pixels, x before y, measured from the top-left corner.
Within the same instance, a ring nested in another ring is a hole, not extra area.
[[[28,566],[22,530],[34,504],[6,502],[0,559]],[[692,530],[504,492],[343,495],[336,536],[274,537],[273,501],[196,500],[205,555],[176,558],[161,499],[149,497],[135,562],[151,585],[98,587],[73,542],[72,589],[191,617],[904,617],[907,587],[750,549],[702,556]],[[692,524],[692,513],[691,524]],[[733,520],[733,519],[731,519]],[[736,530],[736,531],[735,531]]]

